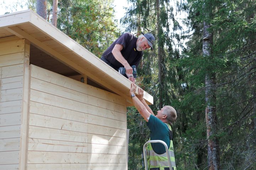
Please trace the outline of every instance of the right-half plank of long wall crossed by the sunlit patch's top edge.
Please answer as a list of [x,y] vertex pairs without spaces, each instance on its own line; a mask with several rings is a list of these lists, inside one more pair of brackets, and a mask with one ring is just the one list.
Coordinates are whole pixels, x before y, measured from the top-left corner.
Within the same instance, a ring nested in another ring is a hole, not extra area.
[[126,138],[88,134],[88,143],[102,145],[126,146]]

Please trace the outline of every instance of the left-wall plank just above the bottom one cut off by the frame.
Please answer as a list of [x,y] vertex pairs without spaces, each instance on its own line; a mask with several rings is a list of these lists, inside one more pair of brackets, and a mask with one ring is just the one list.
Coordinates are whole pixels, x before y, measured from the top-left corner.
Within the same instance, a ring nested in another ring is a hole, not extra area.
[[18,164],[20,151],[0,152],[0,165]]

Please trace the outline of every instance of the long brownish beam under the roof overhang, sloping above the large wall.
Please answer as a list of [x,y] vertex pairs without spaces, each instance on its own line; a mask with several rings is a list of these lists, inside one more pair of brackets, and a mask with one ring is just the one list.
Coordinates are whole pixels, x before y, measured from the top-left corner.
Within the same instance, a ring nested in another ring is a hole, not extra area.
[[72,69],[76,70],[80,74],[87,75],[88,77],[94,79],[97,83],[101,84],[106,89],[115,92],[116,94],[126,98],[128,101],[131,101],[131,98],[129,96],[123,94],[121,91],[117,90],[116,88],[108,85],[106,82],[102,81],[100,78],[96,77],[95,75],[88,72],[84,68],[78,66],[78,64],[70,61],[68,58],[64,57],[63,55],[61,55],[57,51],[51,49],[49,46],[43,44],[41,41],[35,39],[30,34],[27,34],[23,30],[21,30],[20,28],[14,26],[14,27],[8,27],[8,28],[5,28],[5,29],[8,30],[9,32],[17,35],[17,36],[20,36],[20,38],[26,37],[26,39],[29,40],[31,42],[31,44],[33,44],[34,46],[36,46],[40,50],[46,52],[48,55],[52,56],[53,58],[57,59],[58,61],[64,63],[66,66],[71,67]]

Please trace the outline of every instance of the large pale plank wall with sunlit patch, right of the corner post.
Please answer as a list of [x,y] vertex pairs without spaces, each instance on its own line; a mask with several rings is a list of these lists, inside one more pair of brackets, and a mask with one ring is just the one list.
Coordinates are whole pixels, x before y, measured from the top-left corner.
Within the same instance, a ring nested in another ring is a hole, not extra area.
[[27,169],[125,170],[126,101],[31,65]]

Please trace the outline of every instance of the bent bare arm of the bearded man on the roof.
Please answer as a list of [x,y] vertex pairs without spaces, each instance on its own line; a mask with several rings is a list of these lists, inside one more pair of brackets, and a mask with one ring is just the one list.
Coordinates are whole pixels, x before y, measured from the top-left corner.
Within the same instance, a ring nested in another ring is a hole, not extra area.
[[119,61],[121,64],[123,64],[124,68],[126,69],[126,73],[132,74],[133,69],[132,69],[132,67],[130,67],[130,64],[122,56],[121,50],[123,50],[123,45],[116,44],[112,50],[112,54],[116,58],[117,61]]

